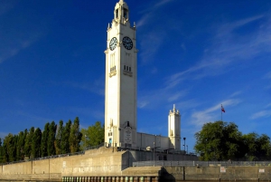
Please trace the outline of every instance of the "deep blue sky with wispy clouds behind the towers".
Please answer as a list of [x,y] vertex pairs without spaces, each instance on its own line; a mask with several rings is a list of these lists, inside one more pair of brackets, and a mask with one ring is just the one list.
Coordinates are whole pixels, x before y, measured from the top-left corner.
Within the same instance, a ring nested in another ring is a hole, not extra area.
[[[46,122],[104,122],[107,24],[117,0],[0,1],[0,138]],[[271,137],[271,1],[126,0],[136,24],[138,131],[189,150],[205,122]]]

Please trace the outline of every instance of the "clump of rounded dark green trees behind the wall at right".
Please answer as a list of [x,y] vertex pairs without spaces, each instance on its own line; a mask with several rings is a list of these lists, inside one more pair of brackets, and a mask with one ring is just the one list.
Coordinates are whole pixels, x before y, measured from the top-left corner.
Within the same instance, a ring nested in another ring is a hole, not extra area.
[[242,134],[233,122],[209,122],[195,134],[195,151],[201,160],[270,160],[271,142],[266,134]]

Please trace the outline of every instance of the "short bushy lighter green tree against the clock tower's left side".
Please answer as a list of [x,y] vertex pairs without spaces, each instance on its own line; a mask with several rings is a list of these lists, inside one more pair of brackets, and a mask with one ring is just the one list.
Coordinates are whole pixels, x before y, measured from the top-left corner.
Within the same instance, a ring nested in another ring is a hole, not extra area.
[[81,133],[83,135],[81,142],[82,149],[89,146],[98,146],[105,140],[105,126],[100,121],[96,121],[88,129],[81,129]]

